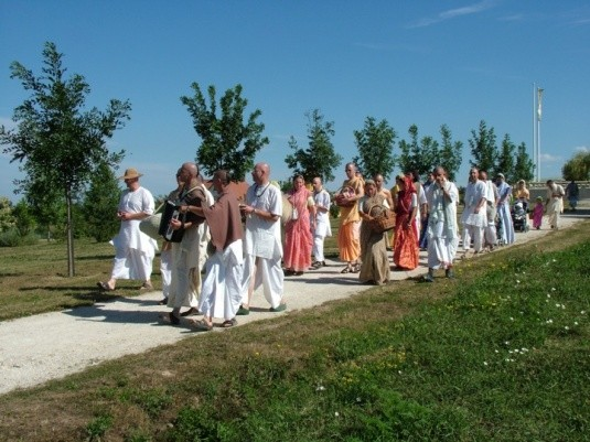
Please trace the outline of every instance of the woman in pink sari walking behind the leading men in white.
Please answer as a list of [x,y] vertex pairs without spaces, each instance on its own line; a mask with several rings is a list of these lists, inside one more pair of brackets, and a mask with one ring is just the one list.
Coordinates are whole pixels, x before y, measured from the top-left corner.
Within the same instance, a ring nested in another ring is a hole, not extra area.
[[[303,176],[293,177],[293,188],[288,193],[288,200],[293,206],[291,219],[285,225],[285,274],[299,277],[311,266],[310,203],[311,192],[305,188]],[[311,200],[313,201],[313,200]]]

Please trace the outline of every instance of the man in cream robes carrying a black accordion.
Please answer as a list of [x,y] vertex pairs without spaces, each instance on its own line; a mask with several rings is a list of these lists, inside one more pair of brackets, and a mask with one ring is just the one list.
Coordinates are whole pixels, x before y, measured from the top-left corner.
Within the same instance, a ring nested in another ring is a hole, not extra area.
[[[212,205],[213,195],[203,184],[196,164],[186,162],[182,164],[180,172],[184,187],[176,206]],[[172,283],[168,297],[168,306],[172,312],[168,314],[168,320],[175,325],[180,324],[182,308],[190,308],[182,313],[183,316],[199,313],[201,270],[205,261],[210,233],[204,217],[186,211],[178,219],[172,219],[170,227],[174,230],[184,230],[182,240],[172,244]]]

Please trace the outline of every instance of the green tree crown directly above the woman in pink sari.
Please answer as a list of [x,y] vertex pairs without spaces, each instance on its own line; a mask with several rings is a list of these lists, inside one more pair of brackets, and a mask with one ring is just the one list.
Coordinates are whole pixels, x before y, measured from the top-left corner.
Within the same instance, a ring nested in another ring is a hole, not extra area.
[[293,174],[303,175],[305,182],[320,176],[323,182],[334,180],[332,171],[342,163],[332,143],[334,122],[325,121],[319,109],[305,112],[308,118],[308,145],[300,148],[296,138],[289,139],[289,148],[294,152],[287,155],[285,162]]

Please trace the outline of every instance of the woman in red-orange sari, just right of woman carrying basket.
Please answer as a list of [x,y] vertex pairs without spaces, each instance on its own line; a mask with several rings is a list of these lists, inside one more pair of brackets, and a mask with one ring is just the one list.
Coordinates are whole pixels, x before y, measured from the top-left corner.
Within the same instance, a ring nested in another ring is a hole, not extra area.
[[412,228],[418,211],[418,196],[409,176],[398,180],[398,184],[394,263],[399,269],[414,270],[418,267],[419,259],[416,231]]

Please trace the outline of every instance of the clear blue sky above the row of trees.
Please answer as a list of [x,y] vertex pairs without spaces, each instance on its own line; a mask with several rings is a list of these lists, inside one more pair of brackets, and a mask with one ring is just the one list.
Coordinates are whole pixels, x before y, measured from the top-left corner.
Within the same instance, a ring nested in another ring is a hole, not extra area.
[[[200,140],[180,103],[193,82],[218,96],[243,85],[270,139],[257,160],[277,180],[290,175],[289,137],[305,145],[304,114],[318,108],[346,161],[368,116],[386,119],[398,141],[412,123],[439,140],[448,125],[464,143],[462,184],[482,119],[498,143],[508,133],[533,155],[534,83],[545,89],[541,179],[590,149],[588,1],[0,0],[0,123],[10,127],[26,97],[10,63],[40,75],[52,41],[68,73],[90,85],[89,106],[131,101],[131,120],[109,145],[126,149],[121,168],[144,173],[155,195],[195,159]],[[335,174],[340,182],[343,165]],[[18,198],[15,177],[0,154],[0,195]]]

